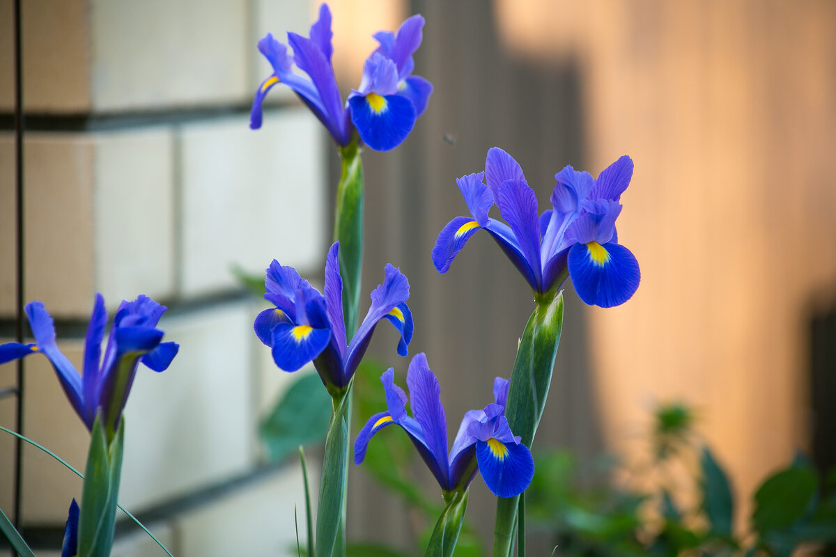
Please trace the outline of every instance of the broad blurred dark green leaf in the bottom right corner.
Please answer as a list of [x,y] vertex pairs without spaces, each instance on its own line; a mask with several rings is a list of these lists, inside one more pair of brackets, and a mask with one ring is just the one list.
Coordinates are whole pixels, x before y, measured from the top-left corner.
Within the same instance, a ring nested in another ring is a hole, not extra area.
[[788,468],[772,475],[755,493],[752,519],[757,531],[788,528],[805,514],[816,489],[818,478],[809,468]]

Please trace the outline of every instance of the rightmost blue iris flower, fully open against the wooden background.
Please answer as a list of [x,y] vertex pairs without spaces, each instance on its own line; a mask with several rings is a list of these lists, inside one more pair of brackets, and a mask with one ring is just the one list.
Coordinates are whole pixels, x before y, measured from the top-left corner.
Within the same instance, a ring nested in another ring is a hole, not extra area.
[[[538,215],[537,198],[510,154],[494,147],[485,171],[456,180],[471,218],[451,220],[436,240],[432,261],[444,273],[467,240],[483,229],[492,235],[537,293],[550,291],[567,274],[589,305],[619,306],[639,287],[639,263],[618,243],[619,199],[633,175],[623,156],[598,179],[567,166],[554,176],[552,209]],[[507,222],[488,216],[496,204]]]

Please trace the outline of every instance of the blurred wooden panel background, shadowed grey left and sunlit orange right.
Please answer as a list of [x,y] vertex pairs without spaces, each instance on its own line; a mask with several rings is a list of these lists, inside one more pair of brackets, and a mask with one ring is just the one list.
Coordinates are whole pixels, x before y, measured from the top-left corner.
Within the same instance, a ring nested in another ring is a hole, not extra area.
[[[334,3],[334,21],[380,15],[377,5]],[[364,291],[385,262],[410,277],[412,352],[426,351],[439,375],[451,429],[490,396],[491,377],[507,374],[532,307],[487,236],[446,276],[431,266],[437,232],[466,210],[455,178],[480,170],[497,144],[545,203],[563,165],[597,175],[630,154],[619,239],[642,284],[606,311],[568,287],[538,445],[640,458],[650,409],[682,399],[748,499],[808,447],[808,322],[836,298],[836,3],[416,0],[400,9],[395,24],[405,13],[427,19],[416,73],[436,92],[405,144],[364,156]],[[380,27],[363,21],[337,29],[337,49]],[[359,63],[350,75],[338,68],[343,83],[359,79]],[[380,337],[373,348],[390,354],[391,337]],[[404,509],[354,475],[354,536],[405,543]],[[493,504],[482,486],[473,491],[468,515],[487,538]]]

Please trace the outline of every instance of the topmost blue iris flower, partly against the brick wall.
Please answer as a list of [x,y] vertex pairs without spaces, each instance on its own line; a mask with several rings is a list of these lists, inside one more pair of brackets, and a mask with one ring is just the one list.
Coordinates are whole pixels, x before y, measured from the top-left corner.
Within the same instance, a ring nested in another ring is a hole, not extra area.
[[[328,5],[319,8],[319,19],[311,25],[309,37],[288,33],[288,44],[268,33],[258,42],[258,50],[273,66],[273,73],[258,87],[250,112],[250,127],[262,124],[262,104],[276,84],[287,85],[328,129],[334,141],[345,147],[354,131],[371,149],[395,149],[410,133],[415,120],[424,112],[432,85],[412,75],[412,54],[421,46],[424,18],[412,16],[401,24],[398,33],[380,31],[380,43],[364,64],[359,89],[343,104],[331,61],[331,12]],[[308,77],[293,73],[293,63]]]

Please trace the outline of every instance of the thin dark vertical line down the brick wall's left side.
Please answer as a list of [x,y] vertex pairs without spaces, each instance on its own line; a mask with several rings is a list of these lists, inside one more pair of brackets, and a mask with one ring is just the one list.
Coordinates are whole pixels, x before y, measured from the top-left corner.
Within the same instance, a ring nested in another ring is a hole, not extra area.
[[[20,0],[14,0],[14,181],[16,230],[16,266],[18,342],[23,342],[23,55],[21,52]],[[23,359],[18,360],[18,408],[15,429],[23,433]],[[21,488],[23,484],[23,442],[15,438],[14,443],[14,524],[20,528]],[[12,550],[12,554],[17,552]]]

